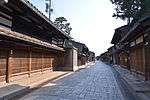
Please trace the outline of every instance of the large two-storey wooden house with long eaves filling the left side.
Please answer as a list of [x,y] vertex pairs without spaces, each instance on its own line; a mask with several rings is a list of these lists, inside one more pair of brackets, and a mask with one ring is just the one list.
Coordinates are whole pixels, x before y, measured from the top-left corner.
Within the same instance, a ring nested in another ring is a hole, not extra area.
[[0,81],[65,66],[70,37],[26,0],[0,0]]

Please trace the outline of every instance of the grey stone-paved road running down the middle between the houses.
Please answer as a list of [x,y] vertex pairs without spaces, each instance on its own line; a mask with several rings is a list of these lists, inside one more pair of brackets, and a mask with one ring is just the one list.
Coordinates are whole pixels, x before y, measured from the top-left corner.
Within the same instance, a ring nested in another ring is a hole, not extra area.
[[102,62],[52,81],[20,100],[124,100],[111,68]]

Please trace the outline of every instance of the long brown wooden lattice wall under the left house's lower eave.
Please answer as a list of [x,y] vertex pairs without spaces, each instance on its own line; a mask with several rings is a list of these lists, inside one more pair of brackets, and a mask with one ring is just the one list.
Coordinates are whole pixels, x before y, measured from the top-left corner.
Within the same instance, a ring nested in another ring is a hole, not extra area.
[[16,75],[53,70],[56,66],[63,66],[63,54],[29,47],[15,46],[12,50],[0,47],[0,81],[9,80]]

